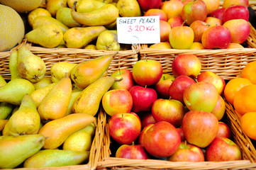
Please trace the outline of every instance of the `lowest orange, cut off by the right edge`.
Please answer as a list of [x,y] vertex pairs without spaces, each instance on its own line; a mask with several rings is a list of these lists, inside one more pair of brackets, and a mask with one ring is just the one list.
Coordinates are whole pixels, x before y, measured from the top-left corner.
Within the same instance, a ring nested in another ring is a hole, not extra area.
[[247,112],[240,119],[241,128],[245,135],[256,140],[256,112]]

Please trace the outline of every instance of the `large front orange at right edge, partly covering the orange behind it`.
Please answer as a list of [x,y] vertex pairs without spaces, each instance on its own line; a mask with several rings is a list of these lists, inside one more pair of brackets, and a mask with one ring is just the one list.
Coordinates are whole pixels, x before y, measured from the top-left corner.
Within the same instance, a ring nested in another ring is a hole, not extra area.
[[235,111],[240,115],[244,115],[247,112],[256,112],[256,84],[250,84],[243,86],[237,94],[235,94],[233,105]]

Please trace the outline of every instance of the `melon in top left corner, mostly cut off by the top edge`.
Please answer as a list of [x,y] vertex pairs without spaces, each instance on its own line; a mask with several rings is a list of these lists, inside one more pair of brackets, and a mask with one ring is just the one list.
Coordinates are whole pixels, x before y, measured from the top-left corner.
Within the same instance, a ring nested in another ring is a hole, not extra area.
[[26,13],[38,8],[43,0],[0,0],[0,3],[10,6],[18,13]]

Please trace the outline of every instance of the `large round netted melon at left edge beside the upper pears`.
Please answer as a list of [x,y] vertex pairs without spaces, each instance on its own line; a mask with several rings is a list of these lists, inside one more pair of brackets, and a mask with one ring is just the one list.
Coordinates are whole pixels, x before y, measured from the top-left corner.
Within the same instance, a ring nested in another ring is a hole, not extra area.
[[21,16],[11,7],[0,4],[0,51],[11,50],[24,38]]

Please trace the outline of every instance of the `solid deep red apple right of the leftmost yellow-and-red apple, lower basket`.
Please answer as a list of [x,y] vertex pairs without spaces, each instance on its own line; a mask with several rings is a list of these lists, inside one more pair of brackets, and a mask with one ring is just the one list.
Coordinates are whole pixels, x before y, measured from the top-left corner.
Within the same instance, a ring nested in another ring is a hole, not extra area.
[[133,97],[132,111],[135,113],[140,111],[151,111],[152,104],[157,100],[157,92],[152,88],[132,86],[129,92]]

